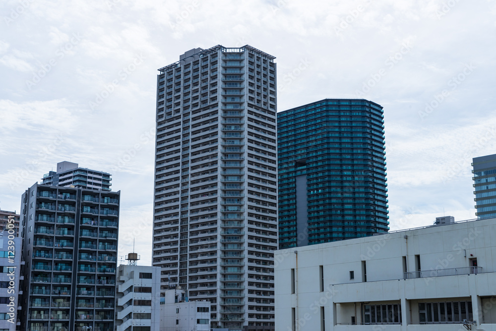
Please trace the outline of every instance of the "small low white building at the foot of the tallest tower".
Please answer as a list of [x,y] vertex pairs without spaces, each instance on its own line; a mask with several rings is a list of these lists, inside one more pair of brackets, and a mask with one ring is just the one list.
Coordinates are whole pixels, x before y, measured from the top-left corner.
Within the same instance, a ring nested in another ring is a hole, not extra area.
[[210,331],[210,302],[186,301],[183,289],[165,291],[160,305],[160,331]]

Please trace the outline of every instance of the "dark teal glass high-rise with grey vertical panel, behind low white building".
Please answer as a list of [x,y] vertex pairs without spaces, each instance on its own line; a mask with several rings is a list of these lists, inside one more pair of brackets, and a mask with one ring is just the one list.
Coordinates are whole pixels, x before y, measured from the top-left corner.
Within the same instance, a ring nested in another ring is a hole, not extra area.
[[325,99],[277,121],[280,249],[389,230],[380,105]]

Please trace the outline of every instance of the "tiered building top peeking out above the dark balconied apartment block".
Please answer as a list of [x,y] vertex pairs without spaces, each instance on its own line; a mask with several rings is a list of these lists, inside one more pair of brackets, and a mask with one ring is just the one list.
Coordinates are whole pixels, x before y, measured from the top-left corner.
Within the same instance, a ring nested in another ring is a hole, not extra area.
[[110,191],[110,173],[81,168],[77,163],[59,162],[57,171],[50,171],[42,178],[44,185],[74,186],[92,190]]

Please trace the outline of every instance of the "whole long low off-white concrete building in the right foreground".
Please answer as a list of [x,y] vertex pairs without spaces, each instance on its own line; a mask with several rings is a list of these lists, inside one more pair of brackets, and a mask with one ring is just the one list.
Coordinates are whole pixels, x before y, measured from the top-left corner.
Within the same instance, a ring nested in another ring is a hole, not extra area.
[[279,250],[276,330],[496,330],[496,219]]

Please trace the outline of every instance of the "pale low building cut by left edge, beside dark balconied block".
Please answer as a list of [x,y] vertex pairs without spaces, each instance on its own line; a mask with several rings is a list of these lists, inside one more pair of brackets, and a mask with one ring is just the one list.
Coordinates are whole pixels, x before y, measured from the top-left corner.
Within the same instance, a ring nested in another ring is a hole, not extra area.
[[[19,300],[22,294],[23,276],[22,239],[16,234],[14,217],[11,226],[0,231],[0,330],[13,331],[21,325],[22,308]],[[8,220],[5,225],[8,224]]]

